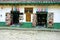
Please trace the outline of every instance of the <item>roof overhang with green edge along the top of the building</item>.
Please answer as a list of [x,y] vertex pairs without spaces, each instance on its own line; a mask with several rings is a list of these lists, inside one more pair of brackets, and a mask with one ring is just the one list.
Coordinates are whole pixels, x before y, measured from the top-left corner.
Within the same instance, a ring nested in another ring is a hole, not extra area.
[[22,4],[22,5],[41,5],[41,4],[60,4],[60,0],[0,0],[0,4]]

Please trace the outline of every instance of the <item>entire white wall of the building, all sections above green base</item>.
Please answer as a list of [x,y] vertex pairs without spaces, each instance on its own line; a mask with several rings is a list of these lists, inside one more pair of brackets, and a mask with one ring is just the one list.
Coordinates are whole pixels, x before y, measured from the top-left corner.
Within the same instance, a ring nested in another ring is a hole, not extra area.
[[[25,8],[25,6],[19,8],[21,13],[24,13],[24,8]],[[10,8],[10,7],[6,7],[3,9],[0,8],[0,22],[5,22],[5,15],[7,12],[10,13],[11,9],[12,8]],[[36,13],[36,11],[37,11],[37,7],[33,7],[33,13]],[[54,23],[60,23],[60,18],[59,18],[60,17],[60,8],[48,8],[48,12],[54,13]],[[33,19],[32,17],[33,17],[33,14],[31,14],[31,22]],[[25,13],[23,15],[23,22],[26,22]]]

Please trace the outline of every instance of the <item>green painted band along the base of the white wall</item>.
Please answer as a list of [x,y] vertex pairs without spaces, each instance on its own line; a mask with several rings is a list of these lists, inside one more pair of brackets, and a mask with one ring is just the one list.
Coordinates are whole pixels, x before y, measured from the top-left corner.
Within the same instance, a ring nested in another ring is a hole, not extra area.
[[[8,27],[8,26],[6,26],[5,22],[0,22],[0,27]],[[20,25],[20,28],[33,28],[32,22],[23,22]],[[54,23],[53,29],[60,29],[60,23]]]

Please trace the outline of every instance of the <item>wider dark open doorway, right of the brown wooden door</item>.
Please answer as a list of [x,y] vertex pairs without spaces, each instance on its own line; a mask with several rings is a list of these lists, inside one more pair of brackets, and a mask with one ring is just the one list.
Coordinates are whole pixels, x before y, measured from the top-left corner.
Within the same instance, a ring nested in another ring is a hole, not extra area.
[[47,12],[37,12],[37,26],[47,26]]

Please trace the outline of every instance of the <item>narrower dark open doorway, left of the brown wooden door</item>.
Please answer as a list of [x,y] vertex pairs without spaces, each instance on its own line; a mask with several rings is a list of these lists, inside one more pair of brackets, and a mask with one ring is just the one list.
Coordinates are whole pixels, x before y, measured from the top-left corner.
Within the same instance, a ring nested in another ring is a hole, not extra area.
[[19,11],[11,11],[11,24],[19,24]]

